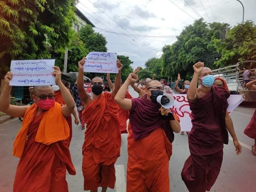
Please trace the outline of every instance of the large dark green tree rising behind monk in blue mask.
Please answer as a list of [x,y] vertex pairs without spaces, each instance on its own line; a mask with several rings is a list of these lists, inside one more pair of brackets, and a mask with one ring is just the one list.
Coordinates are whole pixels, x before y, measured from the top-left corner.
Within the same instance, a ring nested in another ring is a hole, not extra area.
[[195,20],[193,25],[186,26],[172,45],[163,47],[162,75],[189,77],[193,72],[193,64],[204,62],[207,67],[214,68],[218,58],[215,39],[224,38],[227,23],[205,23],[203,19]]

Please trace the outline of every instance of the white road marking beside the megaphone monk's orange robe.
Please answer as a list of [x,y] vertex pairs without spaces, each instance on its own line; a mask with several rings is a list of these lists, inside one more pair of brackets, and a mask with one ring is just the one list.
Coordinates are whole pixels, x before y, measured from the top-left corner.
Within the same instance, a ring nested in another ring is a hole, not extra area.
[[126,178],[124,165],[115,165],[116,169],[116,192],[126,191]]

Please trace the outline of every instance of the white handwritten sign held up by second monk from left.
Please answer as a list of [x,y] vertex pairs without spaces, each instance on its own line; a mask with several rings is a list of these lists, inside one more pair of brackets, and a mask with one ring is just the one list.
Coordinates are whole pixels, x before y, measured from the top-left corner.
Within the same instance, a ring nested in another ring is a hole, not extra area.
[[90,52],[86,56],[84,72],[118,73],[116,59],[114,52]]

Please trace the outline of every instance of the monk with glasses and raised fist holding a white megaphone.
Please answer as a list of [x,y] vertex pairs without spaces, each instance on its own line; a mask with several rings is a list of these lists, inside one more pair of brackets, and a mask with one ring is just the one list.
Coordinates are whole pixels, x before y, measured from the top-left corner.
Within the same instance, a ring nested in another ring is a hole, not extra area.
[[115,97],[123,110],[130,111],[126,191],[169,192],[173,132],[180,132],[180,123],[170,109],[157,103],[157,96],[163,95],[160,81],[148,82],[143,98],[126,99],[129,84],[137,80],[131,73]]

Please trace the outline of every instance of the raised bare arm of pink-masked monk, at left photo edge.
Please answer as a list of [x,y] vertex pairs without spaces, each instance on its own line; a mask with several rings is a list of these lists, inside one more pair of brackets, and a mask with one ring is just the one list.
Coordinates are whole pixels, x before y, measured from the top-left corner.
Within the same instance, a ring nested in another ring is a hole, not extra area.
[[29,108],[29,106],[10,105],[10,94],[12,86],[10,86],[9,83],[12,79],[12,73],[8,72],[4,79],[5,86],[0,96],[0,111],[3,111],[10,116],[23,117],[25,115],[26,109]]

